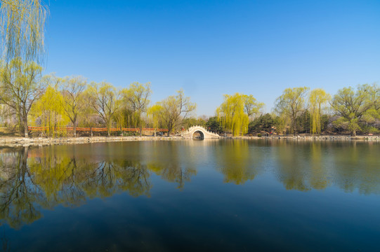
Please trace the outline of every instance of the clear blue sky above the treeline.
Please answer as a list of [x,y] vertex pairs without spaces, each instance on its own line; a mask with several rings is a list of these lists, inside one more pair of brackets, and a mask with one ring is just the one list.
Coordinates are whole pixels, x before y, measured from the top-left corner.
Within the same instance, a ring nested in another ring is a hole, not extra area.
[[50,0],[46,72],[183,88],[197,116],[223,94],[273,108],[287,87],[380,83],[380,1]]

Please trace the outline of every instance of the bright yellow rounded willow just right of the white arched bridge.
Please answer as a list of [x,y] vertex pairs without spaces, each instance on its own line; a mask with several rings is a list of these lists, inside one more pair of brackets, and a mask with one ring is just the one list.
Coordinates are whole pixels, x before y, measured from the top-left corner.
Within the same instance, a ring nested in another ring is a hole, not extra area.
[[223,127],[238,136],[248,132],[249,116],[258,113],[262,106],[252,96],[225,94],[224,102],[216,109],[216,113]]

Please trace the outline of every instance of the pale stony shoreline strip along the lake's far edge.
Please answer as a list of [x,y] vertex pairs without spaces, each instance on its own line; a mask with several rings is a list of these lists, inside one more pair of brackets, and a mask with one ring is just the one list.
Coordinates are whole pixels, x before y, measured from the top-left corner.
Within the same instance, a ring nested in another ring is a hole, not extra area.
[[[380,136],[272,136],[272,137],[220,137],[221,139],[269,140],[269,141],[380,141]],[[0,146],[49,146],[61,144],[91,144],[120,141],[180,141],[184,137],[0,137]],[[207,140],[207,139],[206,139]],[[216,139],[213,139],[216,140]]]

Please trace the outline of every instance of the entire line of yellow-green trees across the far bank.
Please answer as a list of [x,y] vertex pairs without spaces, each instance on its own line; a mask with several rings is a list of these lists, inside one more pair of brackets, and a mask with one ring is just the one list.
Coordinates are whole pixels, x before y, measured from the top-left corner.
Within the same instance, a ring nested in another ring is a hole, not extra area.
[[[253,95],[225,94],[216,116],[196,118],[196,104],[182,90],[151,104],[150,83],[117,89],[81,76],[42,76],[41,70],[35,62],[20,58],[1,64],[1,121],[6,127],[18,128],[25,137],[29,126],[44,127],[48,136],[77,136],[77,127],[105,127],[108,136],[115,132],[111,128],[140,128],[138,134],[146,127],[161,128],[169,135],[192,125],[235,136],[262,132],[355,135],[380,129],[377,84],[344,87],[333,97],[322,89],[287,88],[276,99],[272,113],[265,114],[264,104]],[[59,130],[65,127],[73,130]]]

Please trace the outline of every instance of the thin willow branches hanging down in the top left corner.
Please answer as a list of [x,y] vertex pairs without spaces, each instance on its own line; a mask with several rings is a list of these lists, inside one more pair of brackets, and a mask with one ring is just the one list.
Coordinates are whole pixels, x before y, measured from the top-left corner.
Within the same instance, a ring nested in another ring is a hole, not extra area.
[[0,0],[1,50],[6,62],[18,57],[41,62],[48,8],[41,0]]

